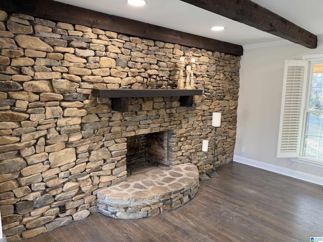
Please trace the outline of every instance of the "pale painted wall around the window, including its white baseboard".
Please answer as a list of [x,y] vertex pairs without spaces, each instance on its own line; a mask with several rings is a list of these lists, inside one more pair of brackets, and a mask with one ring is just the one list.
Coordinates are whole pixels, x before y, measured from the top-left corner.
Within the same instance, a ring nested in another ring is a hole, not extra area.
[[[237,141],[234,161],[323,185],[320,167],[277,158],[278,130],[286,59],[323,54],[298,44],[245,49],[241,58]],[[245,147],[245,152],[241,152]]]

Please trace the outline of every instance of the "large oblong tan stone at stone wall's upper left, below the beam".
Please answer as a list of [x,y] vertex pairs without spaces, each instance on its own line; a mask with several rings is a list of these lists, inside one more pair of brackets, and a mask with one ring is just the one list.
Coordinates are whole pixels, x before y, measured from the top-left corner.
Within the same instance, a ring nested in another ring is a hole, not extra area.
[[17,44],[24,49],[34,49],[46,52],[54,51],[50,45],[46,44],[45,42],[34,36],[17,35],[14,39],[17,42]]

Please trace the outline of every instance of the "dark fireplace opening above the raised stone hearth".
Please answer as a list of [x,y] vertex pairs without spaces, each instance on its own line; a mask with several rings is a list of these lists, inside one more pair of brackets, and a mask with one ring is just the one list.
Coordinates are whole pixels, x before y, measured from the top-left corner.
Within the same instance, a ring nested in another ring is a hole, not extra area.
[[131,173],[137,168],[168,165],[168,133],[157,132],[127,138],[127,170]]

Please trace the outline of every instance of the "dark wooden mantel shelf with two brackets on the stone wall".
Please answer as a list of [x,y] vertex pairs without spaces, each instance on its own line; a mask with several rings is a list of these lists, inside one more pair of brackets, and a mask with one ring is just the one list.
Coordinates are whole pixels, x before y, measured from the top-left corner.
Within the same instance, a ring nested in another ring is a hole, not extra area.
[[93,89],[94,97],[111,98],[112,109],[127,112],[130,97],[180,97],[181,106],[191,107],[193,96],[202,95],[202,89]]

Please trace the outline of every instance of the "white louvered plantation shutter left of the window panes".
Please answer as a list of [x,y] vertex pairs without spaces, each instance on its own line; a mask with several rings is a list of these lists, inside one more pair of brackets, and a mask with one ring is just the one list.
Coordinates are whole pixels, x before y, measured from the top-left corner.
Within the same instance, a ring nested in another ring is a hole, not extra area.
[[286,61],[277,157],[299,156],[308,61]]

